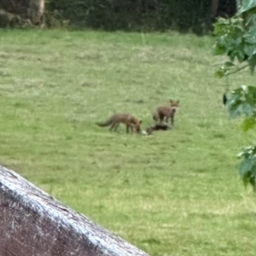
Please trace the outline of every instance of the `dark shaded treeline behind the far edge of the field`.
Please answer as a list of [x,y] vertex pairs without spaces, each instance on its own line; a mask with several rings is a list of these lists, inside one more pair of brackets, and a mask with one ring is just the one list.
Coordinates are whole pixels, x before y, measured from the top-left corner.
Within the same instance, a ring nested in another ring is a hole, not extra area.
[[218,15],[234,15],[236,0],[48,0],[46,8],[73,26],[200,34]]

